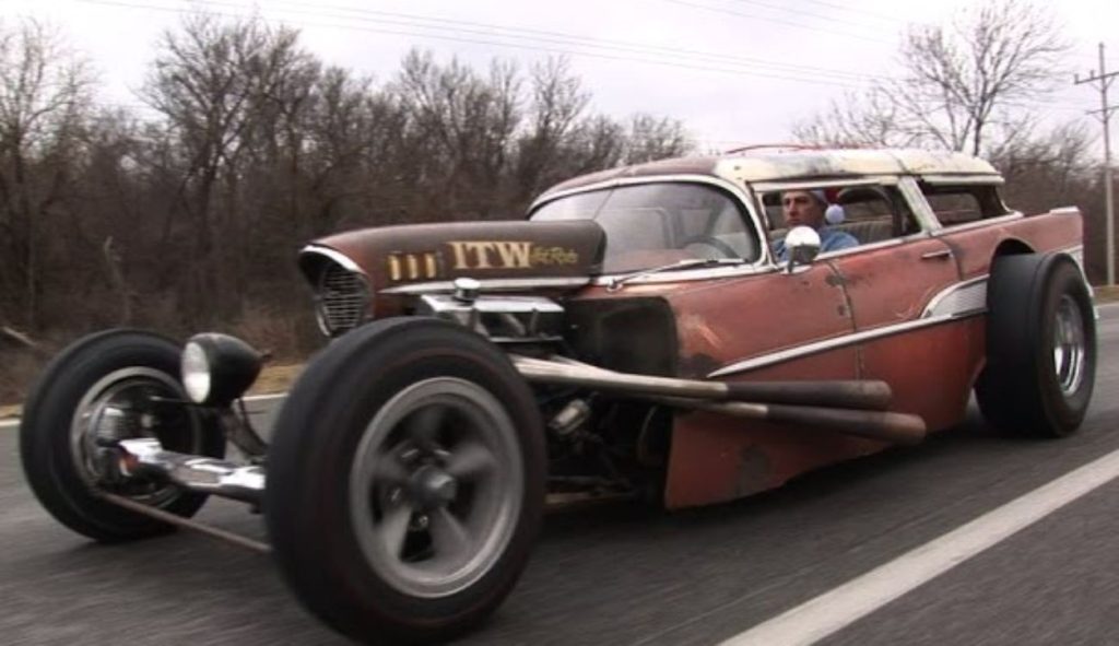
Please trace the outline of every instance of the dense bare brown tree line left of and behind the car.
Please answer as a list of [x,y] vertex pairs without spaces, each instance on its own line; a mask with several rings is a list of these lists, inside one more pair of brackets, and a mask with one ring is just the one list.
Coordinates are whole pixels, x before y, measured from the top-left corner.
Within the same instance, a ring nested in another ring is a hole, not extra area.
[[56,30],[0,30],[0,325],[30,337],[305,318],[312,237],[516,218],[562,179],[692,149],[679,121],[592,113],[563,59],[414,50],[377,84],[256,18],[164,32],[143,111],[96,88]]

